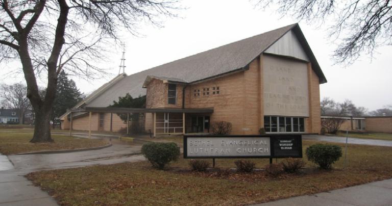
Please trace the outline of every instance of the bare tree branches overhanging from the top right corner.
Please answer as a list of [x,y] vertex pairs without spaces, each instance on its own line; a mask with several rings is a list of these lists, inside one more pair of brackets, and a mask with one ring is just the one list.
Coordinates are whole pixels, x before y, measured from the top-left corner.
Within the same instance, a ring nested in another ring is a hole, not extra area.
[[392,2],[387,0],[255,0],[256,7],[279,6],[278,13],[309,23],[333,22],[332,38],[344,36],[333,61],[352,64],[361,54],[373,57],[379,45],[392,43]]

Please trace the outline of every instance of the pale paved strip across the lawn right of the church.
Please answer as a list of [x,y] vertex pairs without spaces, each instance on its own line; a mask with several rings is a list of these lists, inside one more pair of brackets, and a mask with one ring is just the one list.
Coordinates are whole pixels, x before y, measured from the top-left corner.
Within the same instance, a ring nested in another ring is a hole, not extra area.
[[[326,141],[326,142],[346,143],[346,137],[337,137],[337,136],[302,135],[302,139],[303,140],[317,140],[317,141]],[[388,140],[360,139],[360,138],[349,137],[348,143],[349,144],[366,144],[366,145],[392,147],[392,141],[388,141]]]

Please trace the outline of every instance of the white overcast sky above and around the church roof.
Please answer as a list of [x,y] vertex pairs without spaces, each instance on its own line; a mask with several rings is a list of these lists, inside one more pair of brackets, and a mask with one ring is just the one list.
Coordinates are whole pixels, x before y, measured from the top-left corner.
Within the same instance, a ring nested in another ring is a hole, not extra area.
[[[274,11],[255,9],[252,2],[238,1],[183,1],[188,9],[180,11],[181,18],[168,19],[164,28],[145,25],[138,30],[143,37],[126,32],[126,73],[132,74],[167,62],[200,53],[202,51],[237,40],[296,23],[290,17],[280,18]],[[320,85],[321,98],[337,101],[351,99],[355,105],[371,110],[392,105],[392,46],[377,49],[372,61],[362,57],[349,67],[333,65],[331,55],[334,42],[327,37],[327,24],[322,27],[299,22],[300,27],[320,64],[328,83]],[[111,46],[111,45],[108,45]],[[71,77],[84,93],[90,93],[118,74],[121,50],[111,54],[112,60],[104,67],[112,68],[112,76],[85,81]],[[7,76],[2,83],[23,81],[23,75],[6,75],[11,64],[0,66],[0,75]],[[18,65],[13,65],[14,68]],[[42,81],[41,81],[41,84]]]

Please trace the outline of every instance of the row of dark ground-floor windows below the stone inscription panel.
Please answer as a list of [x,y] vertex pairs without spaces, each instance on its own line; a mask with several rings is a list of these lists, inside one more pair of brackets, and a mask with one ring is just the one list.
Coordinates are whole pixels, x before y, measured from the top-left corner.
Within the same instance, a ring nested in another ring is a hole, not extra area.
[[303,133],[305,132],[305,118],[264,116],[265,132]]

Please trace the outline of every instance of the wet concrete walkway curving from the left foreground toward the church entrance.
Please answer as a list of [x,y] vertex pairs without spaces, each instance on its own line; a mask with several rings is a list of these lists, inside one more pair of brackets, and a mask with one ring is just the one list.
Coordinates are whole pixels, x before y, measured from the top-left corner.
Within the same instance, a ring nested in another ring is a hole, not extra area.
[[57,205],[54,198],[23,176],[29,172],[145,160],[140,155],[141,146],[120,144],[116,139],[112,139],[112,144],[100,150],[70,153],[10,155],[8,158],[0,155],[0,206]]

